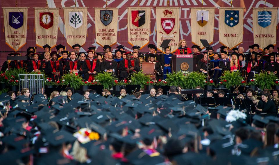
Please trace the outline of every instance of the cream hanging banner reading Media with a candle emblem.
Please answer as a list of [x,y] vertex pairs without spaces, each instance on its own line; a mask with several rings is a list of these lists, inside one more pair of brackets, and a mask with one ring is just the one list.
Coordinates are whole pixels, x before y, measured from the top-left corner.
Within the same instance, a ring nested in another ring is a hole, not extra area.
[[213,42],[215,8],[191,8],[192,43],[203,47],[200,39]]

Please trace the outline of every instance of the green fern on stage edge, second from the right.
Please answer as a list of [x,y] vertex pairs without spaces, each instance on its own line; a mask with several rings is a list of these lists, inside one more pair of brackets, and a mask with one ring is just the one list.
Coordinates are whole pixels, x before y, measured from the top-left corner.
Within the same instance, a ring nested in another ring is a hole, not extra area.
[[223,75],[220,77],[221,82],[223,85],[226,86],[226,88],[230,88],[230,86],[237,86],[241,85],[242,77],[240,76],[240,72],[230,72],[230,71],[224,71]]

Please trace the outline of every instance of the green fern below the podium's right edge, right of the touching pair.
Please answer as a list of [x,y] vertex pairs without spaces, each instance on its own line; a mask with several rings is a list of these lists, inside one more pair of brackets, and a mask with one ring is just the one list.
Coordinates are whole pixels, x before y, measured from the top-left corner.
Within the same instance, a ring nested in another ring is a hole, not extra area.
[[197,86],[204,87],[204,80],[206,76],[200,72],[191,72],[185,76],[185,88],[192,89]]

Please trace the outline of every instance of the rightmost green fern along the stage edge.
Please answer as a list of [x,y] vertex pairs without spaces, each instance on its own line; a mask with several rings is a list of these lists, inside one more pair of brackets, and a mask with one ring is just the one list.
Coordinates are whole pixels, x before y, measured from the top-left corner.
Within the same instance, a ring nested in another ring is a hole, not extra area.
[[273,85],[275,85],[276,79],[277,77],[274,73],[268,74],[267,72],[265,72],[255,75],[255,82],[260,89],[271,89]]

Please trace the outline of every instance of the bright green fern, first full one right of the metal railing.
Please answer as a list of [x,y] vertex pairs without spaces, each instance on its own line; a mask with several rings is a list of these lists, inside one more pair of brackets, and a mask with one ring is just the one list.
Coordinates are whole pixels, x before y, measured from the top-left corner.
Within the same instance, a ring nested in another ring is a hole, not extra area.
[[79,89],[83,84],[82,80],[82,77],[80,77],[78,74],[67,73],[62,76],[62,81],[64,81],[64,84],[74,88],[75,90]]

